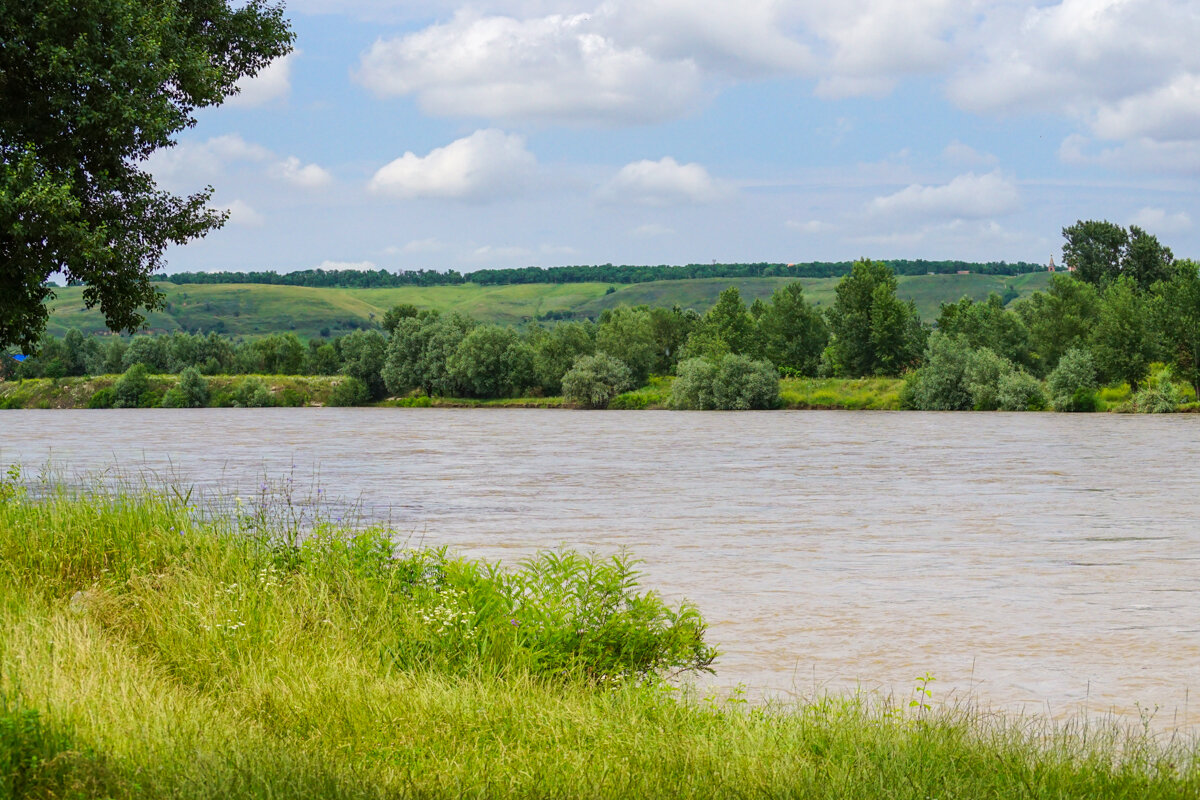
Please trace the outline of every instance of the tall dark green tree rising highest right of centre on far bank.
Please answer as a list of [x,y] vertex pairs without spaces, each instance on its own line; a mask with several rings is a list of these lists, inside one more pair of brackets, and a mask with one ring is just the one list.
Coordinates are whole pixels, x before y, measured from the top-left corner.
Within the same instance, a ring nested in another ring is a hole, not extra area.
[[836,375],[899,374],[925,347],[917,307],[900,302],[895,275],[870,259],[856,261],[838,283],[829,331],[826,357]]

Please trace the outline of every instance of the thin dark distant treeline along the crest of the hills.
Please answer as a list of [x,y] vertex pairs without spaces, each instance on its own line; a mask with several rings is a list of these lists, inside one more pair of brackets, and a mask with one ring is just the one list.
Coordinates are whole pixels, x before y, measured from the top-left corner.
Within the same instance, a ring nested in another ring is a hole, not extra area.
[[[832,278],[847,275],[852,261],[809,261],[805,264],[688,264],[685,266],[631,266],[601,264],[599,266],[526,266],[515,269],[478,270],[462,273],[455,270],[299,270],[295,272],[178,272],[157,276],[172,283],[266,283],[294,287],[343,287],[382,289],[392,287],[432,287],[474,283],[478,285],[508,285],[517,283],[648,283],[650,281],[684,281],[690,278]],[[1018,261],[926,261],[894,260],[889,266],[896,275],[947,275],[976,272],[979,275],[1024,275],[1045,267]]]

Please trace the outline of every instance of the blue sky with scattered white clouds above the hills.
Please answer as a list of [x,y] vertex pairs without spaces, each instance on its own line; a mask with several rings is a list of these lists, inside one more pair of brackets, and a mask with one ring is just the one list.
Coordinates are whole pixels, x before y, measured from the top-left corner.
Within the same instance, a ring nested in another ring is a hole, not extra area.
[[292,0],[181,270],[1200,257],[1194,0]]

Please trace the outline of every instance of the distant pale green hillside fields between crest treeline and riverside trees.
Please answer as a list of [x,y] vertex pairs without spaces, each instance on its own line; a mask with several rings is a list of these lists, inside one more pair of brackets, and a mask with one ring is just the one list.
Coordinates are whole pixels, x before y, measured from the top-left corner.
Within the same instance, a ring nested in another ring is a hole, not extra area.
[[[821,305],[833,302],[839,278],[804,278],[809,297]],[[746,302],[768,299],[791,278],[701,278],[655,281],[652,283],[563,283],[480,287],[400,287],[394,289],[316,289],[266,284],[160,283],[167,308],[149,315],[154,332],[217,331],[232,336],[260,336],[295,332],[301,337],[336,335],[354,327],[371,326],[396,303],[418,308],[458,311],[493,323],[521,324],[557,312],[572,317],[594,317],[605,308],[649,303],[707,309],[722,289],[736,285]],[[982,300],[991,291],[1012,285],[1028,296],[1048,283],[1045,272],[1020,276],[922,275],[900,277],[901,297],[913,300],[920,315],[932,320],[943,302],[964,295]],[[606,294],[612,288],[614,291]],[[64,335],[72,327],[84,332],[104,331],[98,311],[83,307],[80,288],[58,289],[50,302],[48,332]]]

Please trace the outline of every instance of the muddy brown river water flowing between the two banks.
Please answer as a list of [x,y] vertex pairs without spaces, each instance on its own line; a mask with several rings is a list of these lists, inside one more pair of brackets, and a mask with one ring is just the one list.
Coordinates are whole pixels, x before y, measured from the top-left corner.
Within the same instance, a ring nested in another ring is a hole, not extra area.
[[626,548],[701,607],[722,686],[907,698],[929,673],[943,700],[1200,724],[1195,415],[19,410],[0,431],[26,473],[227,499],[290,476],[473,557]]

